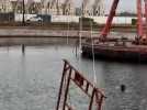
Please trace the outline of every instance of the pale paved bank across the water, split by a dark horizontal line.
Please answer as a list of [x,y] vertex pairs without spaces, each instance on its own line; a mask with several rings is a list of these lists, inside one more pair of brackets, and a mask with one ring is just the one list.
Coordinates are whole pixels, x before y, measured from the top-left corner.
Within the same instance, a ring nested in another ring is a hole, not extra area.
[[[0,29],[0,45],[38,45],[74,43],[81,37],[99,37],[99,31],[42,30],[42,29]],[[135,37],[135,33],[112,32],[109,37]]]

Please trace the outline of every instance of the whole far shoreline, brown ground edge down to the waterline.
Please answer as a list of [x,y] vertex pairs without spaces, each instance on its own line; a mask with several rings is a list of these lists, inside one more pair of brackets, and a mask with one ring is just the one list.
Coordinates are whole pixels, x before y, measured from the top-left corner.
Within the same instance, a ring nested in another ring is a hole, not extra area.
[[[57,26],[57,25],[56,25]],[[92,37],[99,37],[103,25],[93,29]],[[134,33],[136,31],[133,25],[114,25],[113,32]],[[46,44],[66,44],[67,41],[75,44],[79,40],[79,33],[82,33],[82,38],[91,37],[90,30],[79,31],[78,29],[57,28],[53,26],[12,26],[0,25],[0,45],[46,45]]]

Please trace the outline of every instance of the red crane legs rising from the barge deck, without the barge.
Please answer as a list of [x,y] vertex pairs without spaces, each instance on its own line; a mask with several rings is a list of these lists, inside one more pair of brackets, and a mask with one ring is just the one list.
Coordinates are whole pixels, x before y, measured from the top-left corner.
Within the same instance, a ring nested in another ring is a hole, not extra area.
[[[106,20],[106,24],[101,32],[100,40],[106,41],[106,38],[108,38],[106,36],[110,33],[112,21],[113,21],[113,18],[115,16],[118,2],[120,2],[120,0],[113,1],[109,18]],[[147,41],[147,31],[145,34],[144,28],[143,28],[142,0],[137,0],[136,3],[137,3],[137,38],[136,40],[137,40],[137,42]],[[146,25],[147,25],[147,1],[146,0],[145,0],[145,15],[146,15]]]

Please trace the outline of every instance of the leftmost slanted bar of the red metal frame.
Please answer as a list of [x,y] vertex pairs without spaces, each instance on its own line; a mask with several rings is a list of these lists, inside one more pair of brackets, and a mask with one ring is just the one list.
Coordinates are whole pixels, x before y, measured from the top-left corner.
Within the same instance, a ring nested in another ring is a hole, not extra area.
[[59,87],[59,94],[58,94],[58,101],[57,101],[56,110],[59,110],[59,103],[60,103],[61,91],[63,91],[63,86],[64,86],[64,78],[65,78],[65,74],[66,74],[65,73],[66,72],[66,66],[67,66],[67,63],[65,62],[63,76],[61,76],[61,81],[60,81],[60,87]]

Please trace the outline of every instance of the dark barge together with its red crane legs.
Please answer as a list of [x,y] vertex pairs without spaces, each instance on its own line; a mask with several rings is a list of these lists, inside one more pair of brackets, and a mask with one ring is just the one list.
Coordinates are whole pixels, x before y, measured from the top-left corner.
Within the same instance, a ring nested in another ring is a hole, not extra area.
[[[94,54],[95,58],[147,63],[147,30],[144,31],[142,0],[137,0],[137,35],[134,38],[108,37],[118,1],[113,1],[101,35],[97,38],[87,38],[82,43],[82,56],[93,56],[92,54]],[[147,22],[147,2],[145,2],[145,13]]]

